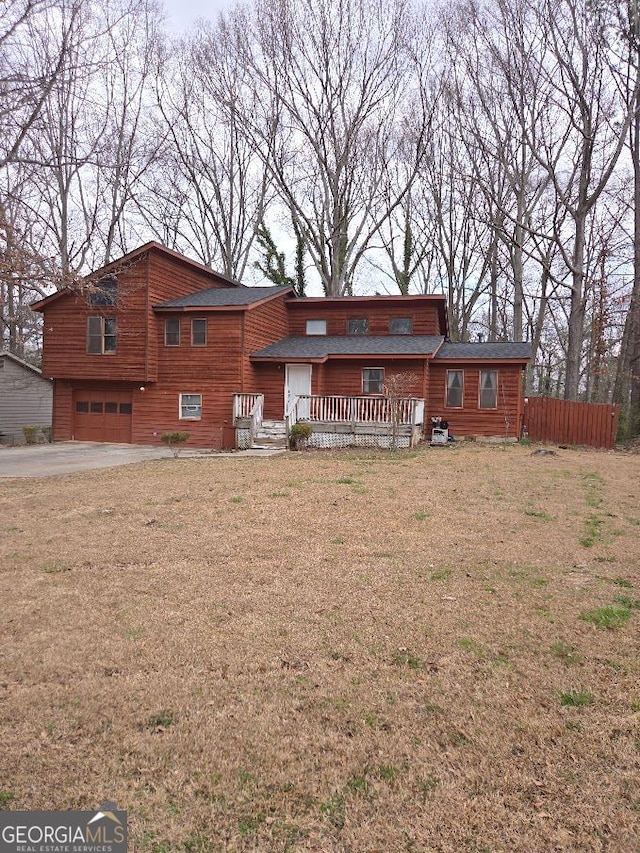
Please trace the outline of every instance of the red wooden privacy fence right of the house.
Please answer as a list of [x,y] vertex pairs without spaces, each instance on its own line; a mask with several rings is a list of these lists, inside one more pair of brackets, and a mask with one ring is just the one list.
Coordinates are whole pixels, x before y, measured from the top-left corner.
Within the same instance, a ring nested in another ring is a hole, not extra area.
[[523,432],[531,441],[615,447],[620,406],[525,397]]

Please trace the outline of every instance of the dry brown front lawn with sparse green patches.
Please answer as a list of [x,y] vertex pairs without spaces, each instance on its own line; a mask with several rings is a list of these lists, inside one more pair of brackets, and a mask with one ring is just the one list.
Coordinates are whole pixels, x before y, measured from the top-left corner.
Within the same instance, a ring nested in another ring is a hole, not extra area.
[[0,802],[115,800],[141,853],[637,851],[639,483],[472,445],[5,481]]

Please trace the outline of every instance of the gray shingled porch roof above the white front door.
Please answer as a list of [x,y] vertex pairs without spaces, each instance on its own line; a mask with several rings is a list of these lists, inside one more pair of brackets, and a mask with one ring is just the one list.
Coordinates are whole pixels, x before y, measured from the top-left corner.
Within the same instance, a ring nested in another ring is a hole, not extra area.
[[441,335],[306,335],[283,338],[251,354],[253,361],[305,359],[326,361],[333,357],[387,356],[411,358],[433,355]]

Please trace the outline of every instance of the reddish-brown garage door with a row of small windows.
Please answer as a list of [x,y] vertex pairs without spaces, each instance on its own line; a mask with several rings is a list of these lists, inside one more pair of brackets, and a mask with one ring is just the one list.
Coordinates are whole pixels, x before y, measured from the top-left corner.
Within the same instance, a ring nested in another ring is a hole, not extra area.
[[74,389],[73,437],[76,441],[131,443],[131,391]]

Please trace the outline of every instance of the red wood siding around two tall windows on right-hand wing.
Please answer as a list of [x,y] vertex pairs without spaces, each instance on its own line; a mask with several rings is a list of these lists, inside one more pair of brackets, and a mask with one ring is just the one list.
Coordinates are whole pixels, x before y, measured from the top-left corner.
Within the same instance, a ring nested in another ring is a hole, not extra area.
[[[464,372],[461,409],[445,405],[447,370]],[[481,409],[479,406],[481,370],[498,371],[498,405],[495,409]],[[432,362],[429,366],[427,418],[440,416],[449,421],[449,429],[454,436],[508,435],[511,438],[519,438],[522,426],[522,373],[521,365],[499,362],[482,365]]]

